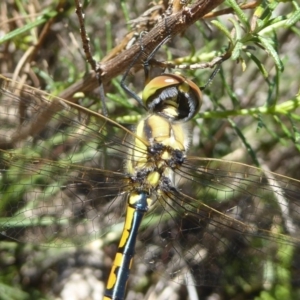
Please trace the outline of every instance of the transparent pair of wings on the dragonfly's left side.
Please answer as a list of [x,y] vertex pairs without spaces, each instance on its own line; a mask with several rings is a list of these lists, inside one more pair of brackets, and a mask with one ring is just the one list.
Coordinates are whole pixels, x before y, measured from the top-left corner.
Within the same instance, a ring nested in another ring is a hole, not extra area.
[[82,244],[120,222],[126,204],[125,128],[83,107],[2,78],[1,234]]

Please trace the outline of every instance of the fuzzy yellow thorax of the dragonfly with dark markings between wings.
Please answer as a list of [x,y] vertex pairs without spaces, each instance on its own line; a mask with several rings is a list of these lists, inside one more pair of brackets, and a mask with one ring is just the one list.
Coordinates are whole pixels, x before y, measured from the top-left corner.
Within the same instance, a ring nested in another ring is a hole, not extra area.
[[173,185],[173,170],[183,164],[189,145],[187,125],[150,114],[139,122],[136,135],[127,163],[133,189],[153,193],[162,182]]

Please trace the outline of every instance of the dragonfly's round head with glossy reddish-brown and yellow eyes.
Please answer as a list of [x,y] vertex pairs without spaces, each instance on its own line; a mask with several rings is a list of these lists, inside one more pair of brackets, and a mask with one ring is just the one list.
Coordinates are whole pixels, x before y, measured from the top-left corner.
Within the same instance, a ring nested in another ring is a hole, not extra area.
[[174,122],[186,122],[199,111],[202,92],[181,75],[163,74],[145,86],[142,99],[150,112]]

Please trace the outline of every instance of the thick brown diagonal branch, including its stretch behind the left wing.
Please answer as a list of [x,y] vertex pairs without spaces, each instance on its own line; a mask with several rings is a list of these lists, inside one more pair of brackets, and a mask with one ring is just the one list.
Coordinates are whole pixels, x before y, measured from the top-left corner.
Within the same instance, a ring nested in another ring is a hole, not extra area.
[[[137,65],[142,67],[143,61],[147,59],[148,55],[153,51],[153,49],[155,49],[155,47],[166,37],[174,37],[180,32],[185,31],[190,25],[195,23],[208,12],[212,11],[223,1],[224,0],[200,0],[191,7],[185,7],[182,11],[163,19],[155,28],[142,37],[142,44],[145,51],[142,53],[142,55],[140,55],[140,58],[137,59]],[[140,43],[137,43],[113,59],[102,64],[100,63],[100,73],[98,74],[100,74],[101,81],[103,83],[109,82],[117,75],[124,73],[136,56],[141,54],[140,50]],[[9,87],[12,87],[11,83],[9,83],[10,80],[4,77],[0,79],[2,79],[2,81],[0,80],[0,89],[5,90],[6,84],[8,84]],[[77,83],[64,90],[59,97],[74,102],[75,100],[73,99],[73,95],[75,93],[89,92],[97,87],[99,87],[99,81],[95,72],[91,71],[85,78],[79,80]],[[11,91],[11,93],[14,93],[14,91]],[[32,93],[33,97],[38,97],[33,89]],[[60,101],[57,101],[57,99],[58,98],[54,98],[54,100],[52,99],[50,102],[51,104],[49,106],[45,106],[45,110],[41,111],[38,117],[36,117],[34,120],[31,120],[29,124],[18,128],[18,130],[11,135],[9,140],[1,141],[1,147],[3,149],[10,148],[16,141],[20,141],[28,136],[34,136],[38,134],[38,132],[44,128],[44,125],[42,124],[47,124],[54,114],[63,109],[64,106]]]

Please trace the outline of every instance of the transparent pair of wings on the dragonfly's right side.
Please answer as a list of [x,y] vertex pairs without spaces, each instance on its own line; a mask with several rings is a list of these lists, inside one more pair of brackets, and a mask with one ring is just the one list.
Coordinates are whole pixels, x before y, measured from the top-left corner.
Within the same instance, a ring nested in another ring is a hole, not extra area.
[[285,266],[299,284],[299,181],[198,157],[175,177],[141,234],[150,268],[180,284],[236,289],[265,284],[267,272],[274,283]]

